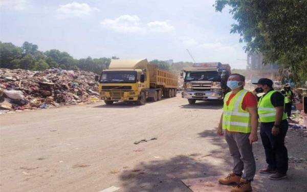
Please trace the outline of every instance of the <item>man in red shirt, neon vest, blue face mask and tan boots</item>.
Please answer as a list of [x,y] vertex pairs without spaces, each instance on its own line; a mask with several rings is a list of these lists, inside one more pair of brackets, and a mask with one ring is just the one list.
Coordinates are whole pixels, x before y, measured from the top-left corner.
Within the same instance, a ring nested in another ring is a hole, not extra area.
[[[217,128],[217,134],[223,135],[233,158],[233,169],[226,178],[218,180],[221,184],[237,184],[232,192],[251,191],[256,164],[252,143],[258,140],[257,98],[244,89],[245,77],[231,74],[227,86],[231,92],[224,98],[223,114]],[[244,172],[243,172],[244,170]]]

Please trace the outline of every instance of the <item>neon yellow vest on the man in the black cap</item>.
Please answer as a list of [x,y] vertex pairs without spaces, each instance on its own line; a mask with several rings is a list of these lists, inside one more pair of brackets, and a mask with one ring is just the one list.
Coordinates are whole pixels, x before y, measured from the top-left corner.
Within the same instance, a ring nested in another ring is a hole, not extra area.
[[[258,115],[260,122],[275,122],[276,109],[271,102],[271,96],[276,91],[270,91],[262,96],[258,103]],[[286,113],[283,113],[282,120],[287,119]]]

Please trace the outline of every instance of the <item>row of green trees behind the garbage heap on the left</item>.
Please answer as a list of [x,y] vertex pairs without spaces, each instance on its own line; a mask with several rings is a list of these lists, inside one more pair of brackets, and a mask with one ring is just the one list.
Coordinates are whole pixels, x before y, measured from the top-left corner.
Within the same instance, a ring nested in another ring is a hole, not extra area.
[[[102,70],[108,68],[111,61],[110,58],[106,57],[75,59],[67,52],[56,49],[42,52],[38,50],[37,45],[27,41],[21,47],[17,47],[10,42],[0,41],[0,53],[1,68],[20,68],[35,71],[60,67],[67,70],[84,70],[99,74]],[[116,56],[112,58],[119,59]]]

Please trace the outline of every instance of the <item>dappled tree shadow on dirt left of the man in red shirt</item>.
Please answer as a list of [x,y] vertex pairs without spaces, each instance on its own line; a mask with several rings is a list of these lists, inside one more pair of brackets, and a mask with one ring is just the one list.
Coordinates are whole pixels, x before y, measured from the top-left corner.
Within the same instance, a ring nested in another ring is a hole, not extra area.
[[[181,180],[224,175],[230,158],[226,158],[224,138],[213,131],[199,133],[200,137],[212,141],[217,150],[206,154],[177,155],[167,160],[140,162],[126,169],[120,176],[121,191],[191,191]],[[204,146],[205,147],[205,146]]]

